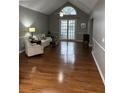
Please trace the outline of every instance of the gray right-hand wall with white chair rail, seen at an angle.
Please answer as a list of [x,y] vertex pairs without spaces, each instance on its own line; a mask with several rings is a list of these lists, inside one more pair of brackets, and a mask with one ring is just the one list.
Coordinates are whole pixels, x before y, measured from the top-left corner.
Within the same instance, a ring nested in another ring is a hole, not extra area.
[[93,50],[94,59],[105,80],[105,1],[100,0],[92,12],[93,21]]

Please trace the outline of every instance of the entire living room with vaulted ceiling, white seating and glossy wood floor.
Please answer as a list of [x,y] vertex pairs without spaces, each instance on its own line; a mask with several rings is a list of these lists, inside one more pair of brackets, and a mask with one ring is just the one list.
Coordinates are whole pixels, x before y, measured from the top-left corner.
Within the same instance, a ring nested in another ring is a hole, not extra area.
[[48,3],[19,1],[20,92],[104,93],[104,0]]

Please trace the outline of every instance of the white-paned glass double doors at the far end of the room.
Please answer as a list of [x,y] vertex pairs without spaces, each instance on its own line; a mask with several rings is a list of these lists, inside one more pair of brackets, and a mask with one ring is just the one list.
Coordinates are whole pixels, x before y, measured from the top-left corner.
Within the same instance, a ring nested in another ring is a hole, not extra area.
[[75,40],[75,19],[60,20],[60,38],[61,40]]

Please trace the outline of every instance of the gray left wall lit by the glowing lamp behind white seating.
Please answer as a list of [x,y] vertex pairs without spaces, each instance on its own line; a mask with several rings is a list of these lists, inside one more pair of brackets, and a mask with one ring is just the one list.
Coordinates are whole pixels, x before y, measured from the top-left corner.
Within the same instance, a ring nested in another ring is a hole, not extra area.
[[27,33],[26,24],[30,24],[30,27],[36,27],[35,34],[47,34],[48,16],[19,6],[19,51],[24,50],[23,37]]

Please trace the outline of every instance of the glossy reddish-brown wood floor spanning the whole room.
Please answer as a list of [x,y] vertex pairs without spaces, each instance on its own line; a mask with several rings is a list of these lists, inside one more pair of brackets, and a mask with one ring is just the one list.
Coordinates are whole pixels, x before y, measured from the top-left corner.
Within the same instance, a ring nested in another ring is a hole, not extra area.
[[20,54],[20,93],[104,93],[91,55],[82,43],[61,42],[43,55]]

